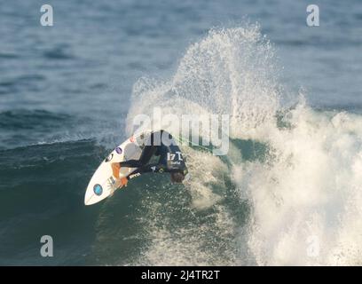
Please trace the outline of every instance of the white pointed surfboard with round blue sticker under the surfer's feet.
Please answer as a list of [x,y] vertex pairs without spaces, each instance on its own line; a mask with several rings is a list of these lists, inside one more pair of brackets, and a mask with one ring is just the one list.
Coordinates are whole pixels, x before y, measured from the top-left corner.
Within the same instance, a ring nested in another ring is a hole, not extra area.
[[[145,138],[148,132],[146,130],[132,135],[108,154],[91,177],[84,196],[85,205],[98,203],[106,197],[113,195],[117,188],[112,173],[112,162],[138,160],[142,153],[142,147],[145,145]],[[134,170],[136,168],[121,168],[120,177],[128,177]]]

